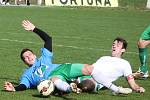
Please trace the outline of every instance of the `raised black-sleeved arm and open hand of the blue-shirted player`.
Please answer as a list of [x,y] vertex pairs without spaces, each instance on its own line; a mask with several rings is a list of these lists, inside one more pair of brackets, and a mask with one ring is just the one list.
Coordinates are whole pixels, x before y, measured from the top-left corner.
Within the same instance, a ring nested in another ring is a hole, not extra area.
[[42,40],[44,41],[44,48],[48,49],[50,52],[52,52],[52,37],[50,37],[47,33],[44,31],[36,28],[30,21],[23,20],[22,26],[27,31],[33,31],[37,35],[39,35]]

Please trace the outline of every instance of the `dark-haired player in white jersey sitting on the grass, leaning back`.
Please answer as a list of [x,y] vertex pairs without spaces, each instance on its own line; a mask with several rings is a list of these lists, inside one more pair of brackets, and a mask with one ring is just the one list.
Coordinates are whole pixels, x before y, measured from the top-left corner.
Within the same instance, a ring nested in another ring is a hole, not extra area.
[[86,69],[83,70],[84,75],[92,75],[95,81],[101,83],[115,93],[128,94],[130,90],[128,91],[126,88],[120,88],[112,83],[119,77],[124,76],[132,90],[140,93],[145,92],[145,89],[134,81],[129,62],[121,58],[126,48],[127,42],[123,38],[117,37],[112,44],[112,56],[103,56],[91,67],[83,68]]

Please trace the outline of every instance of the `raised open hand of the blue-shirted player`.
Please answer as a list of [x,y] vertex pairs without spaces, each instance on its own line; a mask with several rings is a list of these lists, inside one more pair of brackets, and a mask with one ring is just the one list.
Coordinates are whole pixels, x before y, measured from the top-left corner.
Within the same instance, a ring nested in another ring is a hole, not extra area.
[[23,20],[22,21],[22,26],[27,31],[33,31],[34,28],[35,28],[35,26],[28,20]]

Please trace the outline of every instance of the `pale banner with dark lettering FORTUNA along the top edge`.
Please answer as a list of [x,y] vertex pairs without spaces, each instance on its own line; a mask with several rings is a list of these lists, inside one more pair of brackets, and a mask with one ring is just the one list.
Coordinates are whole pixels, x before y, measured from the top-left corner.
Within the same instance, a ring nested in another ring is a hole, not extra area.
[[45,5],[118,7],[118,0],[45,0]]

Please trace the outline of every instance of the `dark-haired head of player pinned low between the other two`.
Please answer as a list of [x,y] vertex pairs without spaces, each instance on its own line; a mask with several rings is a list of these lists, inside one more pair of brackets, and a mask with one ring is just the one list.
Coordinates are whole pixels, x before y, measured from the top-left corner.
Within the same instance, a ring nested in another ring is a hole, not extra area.
[[80,88],[83,92],[93,92],[95,89],[95,83],[92,80],[86,79],[78,84],[78,88]]

